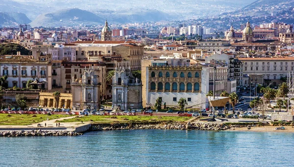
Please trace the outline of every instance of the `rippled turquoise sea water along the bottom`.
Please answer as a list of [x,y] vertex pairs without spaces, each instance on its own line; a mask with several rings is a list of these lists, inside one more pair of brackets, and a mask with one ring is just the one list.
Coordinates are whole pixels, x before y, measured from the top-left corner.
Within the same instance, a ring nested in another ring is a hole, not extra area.
[[0,143],[0,167],[294,166],[294,133],[117,130]]

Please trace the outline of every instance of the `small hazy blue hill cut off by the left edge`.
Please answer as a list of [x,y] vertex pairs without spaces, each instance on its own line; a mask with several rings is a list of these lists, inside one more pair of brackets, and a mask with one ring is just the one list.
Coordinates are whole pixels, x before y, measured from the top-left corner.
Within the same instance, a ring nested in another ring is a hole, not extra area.
[[0,12],[0,26],[10,26],[17,24],[28,24],[29,20],[24,13]]

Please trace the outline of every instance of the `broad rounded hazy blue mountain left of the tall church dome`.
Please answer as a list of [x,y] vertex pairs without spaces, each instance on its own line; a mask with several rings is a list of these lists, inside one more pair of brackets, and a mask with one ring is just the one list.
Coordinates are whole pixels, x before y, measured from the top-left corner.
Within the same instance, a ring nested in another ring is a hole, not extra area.
[[61,9],[56,12],[39,15],[33,20],[31,26],[75,26],[80,24],[102,24],[104,20],[92,12],[73,9]]

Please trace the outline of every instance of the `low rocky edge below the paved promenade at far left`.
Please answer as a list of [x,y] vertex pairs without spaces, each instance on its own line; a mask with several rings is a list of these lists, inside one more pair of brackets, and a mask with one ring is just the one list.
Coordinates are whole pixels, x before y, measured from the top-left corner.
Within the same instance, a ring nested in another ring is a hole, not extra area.
[[0,131],[0,137],[18,137],[18,136],[79,136],[82,133],[73,131]]

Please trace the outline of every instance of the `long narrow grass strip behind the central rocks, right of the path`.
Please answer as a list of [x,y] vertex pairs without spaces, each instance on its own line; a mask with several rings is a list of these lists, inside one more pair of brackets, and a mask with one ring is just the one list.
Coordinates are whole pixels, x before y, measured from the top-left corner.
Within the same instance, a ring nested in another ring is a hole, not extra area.
[[[116,117],[117,119],[111,119],[111,117]],[[172,121],[186,121],[192,119],[192,117],[160,117],[157,116],[84,116],[84,117],[76,117],[73,119],[64,119],[59,122],[79,122],[79,121],[90,121],[94,122],[129,122],[129,121],[159,121],[159,120],[172,120]]]

